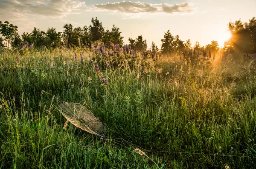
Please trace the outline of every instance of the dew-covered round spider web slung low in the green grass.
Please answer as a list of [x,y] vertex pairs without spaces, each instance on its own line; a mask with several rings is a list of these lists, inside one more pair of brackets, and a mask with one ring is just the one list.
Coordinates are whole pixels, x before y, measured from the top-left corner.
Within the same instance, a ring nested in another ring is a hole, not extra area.
[[70,123],[87,132],[104,137],[105,127],[99,118],[96,118],[90,110],[81,104],[61,102],[58,104],[59,111]]

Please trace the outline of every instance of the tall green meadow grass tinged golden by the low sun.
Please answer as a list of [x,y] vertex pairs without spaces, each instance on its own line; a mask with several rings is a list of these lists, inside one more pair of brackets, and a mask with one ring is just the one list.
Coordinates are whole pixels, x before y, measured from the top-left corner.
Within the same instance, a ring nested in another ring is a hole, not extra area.
[[[0,168],[255,168],[255,89],[256,60],[242,56],[153,61],[85,49],[3,50]],[[86,106],[106,138],[70,123],[64,129],[58,101]]]

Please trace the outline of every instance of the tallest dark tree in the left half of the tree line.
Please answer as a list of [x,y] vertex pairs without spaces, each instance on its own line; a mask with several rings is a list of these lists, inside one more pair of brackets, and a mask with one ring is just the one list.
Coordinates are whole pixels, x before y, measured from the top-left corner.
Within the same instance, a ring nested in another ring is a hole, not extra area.
[[102,39],[105,33],[102,23],[99,22],[97,17],[95,19],[93,18],[91,22],[92,22],[92,25],[89,26],[89,31],[90,31],[92,41]]

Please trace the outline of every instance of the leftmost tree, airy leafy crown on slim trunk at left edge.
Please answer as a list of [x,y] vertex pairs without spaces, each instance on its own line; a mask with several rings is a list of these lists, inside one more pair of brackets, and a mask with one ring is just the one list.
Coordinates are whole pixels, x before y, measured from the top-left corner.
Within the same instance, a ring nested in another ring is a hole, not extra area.
[[5,21],[4,23],[2,23],[0,21],[0,34],[5,37],[3,40],[7,41],[8,44],[8,48],[9,48],[9,44],[10,41],[12,40],[12,36],[15,34],[15,32],[17,32],[17,26],[10,24],[9,22]]

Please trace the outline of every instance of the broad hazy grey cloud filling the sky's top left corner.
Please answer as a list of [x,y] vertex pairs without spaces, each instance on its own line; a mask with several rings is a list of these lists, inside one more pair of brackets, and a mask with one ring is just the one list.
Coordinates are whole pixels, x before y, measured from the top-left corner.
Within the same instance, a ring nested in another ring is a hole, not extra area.
[[0,16],[6,20],[28,15],[61,18],[84,5],[75,0],[1,0]]

